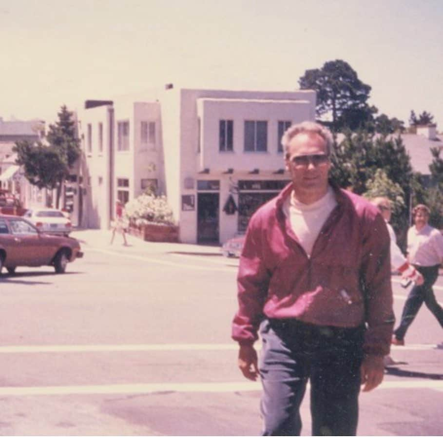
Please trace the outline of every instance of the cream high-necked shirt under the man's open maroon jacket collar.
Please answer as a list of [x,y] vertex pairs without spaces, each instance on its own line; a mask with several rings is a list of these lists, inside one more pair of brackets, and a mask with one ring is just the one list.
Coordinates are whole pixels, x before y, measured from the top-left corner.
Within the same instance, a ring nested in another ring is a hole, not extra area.
[[312,252],[315,240],[327,217],[336,206],[337,200],[330,186],[320,200],[310,205],[299,202],[293,191],[284,202],[283,212],[288,217],[292,231],[297,235],[308,256]]

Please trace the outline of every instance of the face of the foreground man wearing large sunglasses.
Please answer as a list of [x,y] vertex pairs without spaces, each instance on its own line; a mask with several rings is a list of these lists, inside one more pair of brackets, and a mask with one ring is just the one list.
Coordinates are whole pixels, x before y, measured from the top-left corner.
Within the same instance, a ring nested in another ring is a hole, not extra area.
[[295,196],[303,203],[313,203],[323,197],[331,166],[326,141],[315,133],[300,133],[290,140],[287,154],[286,167]]

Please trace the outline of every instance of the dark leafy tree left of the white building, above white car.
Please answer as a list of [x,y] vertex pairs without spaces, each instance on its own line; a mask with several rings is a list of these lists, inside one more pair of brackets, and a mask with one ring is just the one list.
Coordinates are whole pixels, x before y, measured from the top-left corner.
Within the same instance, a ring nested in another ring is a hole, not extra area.
[[39,189],[57,189],[57,206],[61,188],[70,169],[80,156],[80,140],[76,136],[76,124],[72,113],[63,105],[58,121],[49,126],[46,136],[48,145],[17,142],[17,164],[24,166],[26,178]]

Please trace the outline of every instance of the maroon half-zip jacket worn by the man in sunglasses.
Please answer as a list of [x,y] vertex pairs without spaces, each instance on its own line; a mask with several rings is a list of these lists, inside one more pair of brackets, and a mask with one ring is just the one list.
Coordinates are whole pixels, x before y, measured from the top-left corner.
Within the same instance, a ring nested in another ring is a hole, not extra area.
[[282,211],[291,190],[289,184],[250,219],[232,338],[253,343],[264,315],[321,326],[366,323],[365,353],[388,354],[395,319],[385,221],[363,197],[334,188],[338,204],[309,258]]

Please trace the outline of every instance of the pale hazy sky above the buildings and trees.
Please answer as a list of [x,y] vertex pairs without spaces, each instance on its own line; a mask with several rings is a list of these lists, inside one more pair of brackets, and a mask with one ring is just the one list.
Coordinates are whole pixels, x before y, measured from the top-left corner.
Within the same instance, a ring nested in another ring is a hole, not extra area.
[[442,0],[0,0],[0,116],[152,87],[293,91],[347,61],[369,104],[443,132]]

